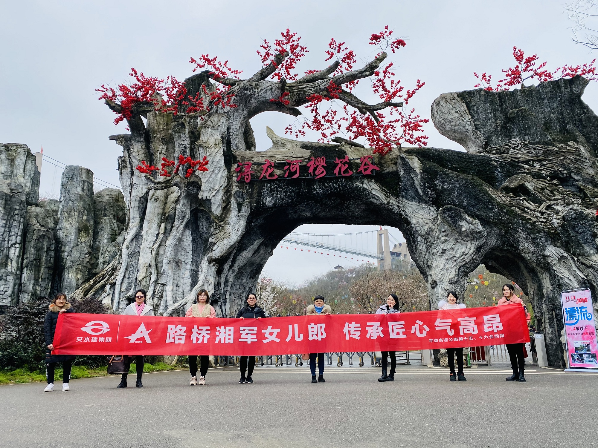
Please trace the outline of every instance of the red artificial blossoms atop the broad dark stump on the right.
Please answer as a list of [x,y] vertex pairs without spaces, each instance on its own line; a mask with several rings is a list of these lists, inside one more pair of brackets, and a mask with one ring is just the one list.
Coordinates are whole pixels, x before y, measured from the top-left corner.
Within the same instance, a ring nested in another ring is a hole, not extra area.
[[481,75],[474,72],[474,76],[480,81],[474,87],[483,87],[484,90],[489,91],[509,90],[512,86],[525,87],[524,81],[527,79],[546,82],[552,79],[573,78],[576,75],[585,76],[590,81],[598,81],[598,73],[596,73],[596,67],[594,66],[596,59],[584,65],[564,65],[550,71],[545,68],[547,62],[542,62],[536,66],[539,61],[537,54],[526,57],[523,50],[513,47],[513,57],[516,62],[515,66],[502,70],[505,78],[500,79],[494,87],[491,85],[492,75],[488,75],[486,72],[481,73]]

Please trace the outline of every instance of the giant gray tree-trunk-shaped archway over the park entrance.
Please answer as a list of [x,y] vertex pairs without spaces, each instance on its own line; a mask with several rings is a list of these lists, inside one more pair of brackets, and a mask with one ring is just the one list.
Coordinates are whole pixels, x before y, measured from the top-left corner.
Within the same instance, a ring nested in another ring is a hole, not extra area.
[[[154,111],[152,103],[133,106],[130,134],[111,137],[123,147],[127,216],[120,250],[75,296],[102,297],[118,312],[144,287],[155,310],[170,315],[206,287],[219,300],[218,314],[230,315],[296,226],[392,225],[407,240],[432,306],[448,290],[462,293],[480,263],[517,281],[543,323],[550,363],[559,364],[560,290],[590,287],[596,296],[598,284],[598,119],[581,100],[587,81],[577,76],[511,92],[444,94],[432,105],[434,124],[468,152],[396,148],[373,157],[380,167],[373,176],[283,178],[286,161],[304,165],[312,158],[348,157],[356,173],[372,149],[343,139],[299,142],[269,131],[272,147],[255,151],[252,116],[297,115],[311,95],[370,76],[385,57],[335,76],[332,65],[294,82],[267,80],[272,64],[244,80],[200,73],[185,81],[191,95],[213,91],[210,79],[229,85],[235,108],[187,113],[181,107],[175,115]],[[390,105],[341,100],[363,113]],[[121,110],[115,102],[108,106]],[[142,161],[179,154],[206,156],[209,171],[161,179],[136,170]],[[237,181],[236,168],[266,159],[279,179],[257,180],[258,172],[249,183]]]

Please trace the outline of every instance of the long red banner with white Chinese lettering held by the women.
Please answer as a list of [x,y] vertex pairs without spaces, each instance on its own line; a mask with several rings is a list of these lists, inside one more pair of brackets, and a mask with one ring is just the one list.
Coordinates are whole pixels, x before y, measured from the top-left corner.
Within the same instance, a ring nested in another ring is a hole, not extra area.
[[523,308],[263,319],[61,314],[60,355],[284,355],[529,342]]

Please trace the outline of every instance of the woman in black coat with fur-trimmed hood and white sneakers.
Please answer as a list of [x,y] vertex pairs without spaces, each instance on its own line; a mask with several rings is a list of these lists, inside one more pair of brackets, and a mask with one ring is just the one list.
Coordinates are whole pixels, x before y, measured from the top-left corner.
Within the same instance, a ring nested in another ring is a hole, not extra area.
[[71,379],[71,366],[72,361],[75,359],[74,355],[53,355],[52,350],[54,349],[54,332],[56,331],[56,322],[58,316],[63,312],[74,312],[71,308],[71,303],[66,301],[65,293],[58,293],[54,300],[48,306],[50,311],[45,315],[44,320],[44,337],[45,337],[45,376],[48,380],[48,385],[44,389],[44,392],[51,392],[54,390],[54,370],[56,369],[56,363],[62,363],[62,390],[68,391],[69,379]]

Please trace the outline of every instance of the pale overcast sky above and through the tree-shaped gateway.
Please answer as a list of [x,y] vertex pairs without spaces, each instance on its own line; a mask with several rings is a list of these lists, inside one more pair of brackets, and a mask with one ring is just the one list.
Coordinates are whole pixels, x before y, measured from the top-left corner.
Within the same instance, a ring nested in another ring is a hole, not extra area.
[[[261,67],[255,50],[287,27],[310,53],[299,69],[322,68],[331,37],[346,41],[364,62],[376,55],[371,33],[386,24],[407,42],[392,55],[407,88],[425,87],[410,105],[429,118],[438,95],[472,88],[472,72],[498,79],[511,66],[511,48],[538,53],[548,67],[589,62],[588,49],[571,41],[564,2],[542,1],[4,1],[0,3],[0,142],[25,143],[33,152],[83,165],[118,185],[120,147],[108,140],[125,132],[97,100],[100,84],[118,84],[131,67],[146,75],[193,74],[188,60],[208,53],[251,75]],[[243,76],[241,75],[241,76]],[[584,100],[598,107],[598,83]],[[252,119],[258,150],[269,148],[265,128],[283,134],[291,116],[269,112]],[[429,146],[460,149],[426,127]],[[42,194],[59,191],[60,170],[42,168]],[[333,228],[329,228],[333,229]],[[336,229],[336,228],[334,228]],[[395,231],[397,232],[397,231]],[[329,269],[328,260],[295,259],[277,250],[271,277],[298,283]]]

